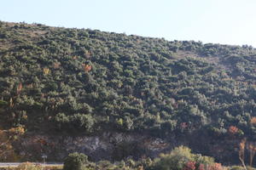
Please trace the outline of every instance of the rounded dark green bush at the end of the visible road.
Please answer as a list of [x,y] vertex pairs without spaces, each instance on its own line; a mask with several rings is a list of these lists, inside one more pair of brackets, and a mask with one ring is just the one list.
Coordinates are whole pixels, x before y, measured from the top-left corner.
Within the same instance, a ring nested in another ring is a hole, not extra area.
[[74,152],[65,158],[63,170],[84,170],[87,163],[88,156]]

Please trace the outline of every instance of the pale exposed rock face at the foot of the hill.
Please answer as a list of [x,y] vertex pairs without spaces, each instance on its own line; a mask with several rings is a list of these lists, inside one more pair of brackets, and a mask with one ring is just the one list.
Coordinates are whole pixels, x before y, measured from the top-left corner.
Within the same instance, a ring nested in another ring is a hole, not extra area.
[[27,135],[15,144],[17,152],[25,160],[41,161],[46,154],[49,161],[62,161],[68,153],[82,152],[93,161],[120,160],[125,157],[135,159],[142,156],[158,156],[170,150],[164,139],[132,133],[103,133],[100,136],[49,136]]

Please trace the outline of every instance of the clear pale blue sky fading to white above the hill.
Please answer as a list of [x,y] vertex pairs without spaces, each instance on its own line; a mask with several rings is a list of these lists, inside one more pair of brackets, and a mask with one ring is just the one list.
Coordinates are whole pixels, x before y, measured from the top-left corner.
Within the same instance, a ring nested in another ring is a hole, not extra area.
[[0,20],[256,47],[256,0],[3,0]]

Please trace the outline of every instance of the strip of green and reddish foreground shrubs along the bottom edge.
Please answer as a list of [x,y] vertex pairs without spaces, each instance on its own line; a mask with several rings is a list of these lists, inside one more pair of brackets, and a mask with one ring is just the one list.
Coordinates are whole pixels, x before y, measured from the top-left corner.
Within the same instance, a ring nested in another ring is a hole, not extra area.
[[[144,158],[139,161],[127,159],[124,161],[88,161],[87,156],[79,153],[72,153],[67,156],[63,170],[242,170],[243,167],[223,167],[214,161],[212,157],[193,154],[188,147],[179,146],[167,154],[160,154],[159,157],[151,160]],[[247,167],[253,170],[253,167]]]

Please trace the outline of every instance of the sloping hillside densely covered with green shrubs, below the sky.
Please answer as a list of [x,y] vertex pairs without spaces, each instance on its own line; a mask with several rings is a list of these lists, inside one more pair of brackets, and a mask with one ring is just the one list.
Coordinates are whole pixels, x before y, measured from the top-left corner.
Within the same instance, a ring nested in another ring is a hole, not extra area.
[[1,22],[0,127],[146,134],[238,161],[239,141],[255,140],[255,68],[247,45]]

